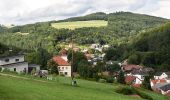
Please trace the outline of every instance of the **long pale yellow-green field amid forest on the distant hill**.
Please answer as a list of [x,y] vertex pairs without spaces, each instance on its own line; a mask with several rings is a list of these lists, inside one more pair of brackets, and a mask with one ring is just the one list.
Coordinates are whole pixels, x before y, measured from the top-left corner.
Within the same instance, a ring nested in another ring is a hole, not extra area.
[[52,27],[57,29],[71,29],[74,30],[76,28],[83,27],[102,27],[107,26],[108,22],[104,20],[92,20],[92,21],[74,21],[74,22],[59,22],[52,23]]

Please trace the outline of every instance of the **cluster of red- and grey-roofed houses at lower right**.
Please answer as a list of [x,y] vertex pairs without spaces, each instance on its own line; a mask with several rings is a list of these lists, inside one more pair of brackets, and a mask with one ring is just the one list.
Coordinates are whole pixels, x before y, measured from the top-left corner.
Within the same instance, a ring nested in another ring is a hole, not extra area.
[[126,84],[134,87],[141,87],[145,76],[152,73],[154,77],[150,79],[151,89],[163,95],[170,96],[170,72],[155,73],[154,69],[149,67],[129,65],[127,60],[122,63],[121,68],[125,72]]

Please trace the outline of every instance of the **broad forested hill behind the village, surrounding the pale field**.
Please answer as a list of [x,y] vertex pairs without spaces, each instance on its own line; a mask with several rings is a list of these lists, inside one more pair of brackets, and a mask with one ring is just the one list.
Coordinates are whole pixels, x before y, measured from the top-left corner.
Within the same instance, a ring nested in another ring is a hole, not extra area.
[[[51,23],[87,20],[105,20],[108,21],[108,25],[75,30],[55,29],[51,26]],[[42,47],[48,52],[53,52],[56,51],[58,44],[70,42],[70,33],[74,33],[74,40],[78,44],[108,43],[120,45],[127,43],[138,33],[159,27],[167,22],[169,22],[168,19],[130,12],[110,14],[99,12],[60,21],[40,22],[12,28],[0,27],[0,43],[31,50]]]

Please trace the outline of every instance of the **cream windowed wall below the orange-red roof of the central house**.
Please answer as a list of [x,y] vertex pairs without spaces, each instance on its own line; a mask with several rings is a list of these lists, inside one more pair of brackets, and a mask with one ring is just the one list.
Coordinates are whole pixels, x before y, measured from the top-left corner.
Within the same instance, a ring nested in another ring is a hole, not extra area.
[[67,77],[71,77],[71,66],[58,66],[59,74],[64,74],[67,72]]

